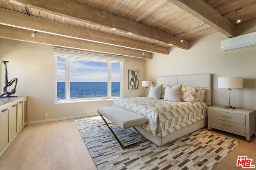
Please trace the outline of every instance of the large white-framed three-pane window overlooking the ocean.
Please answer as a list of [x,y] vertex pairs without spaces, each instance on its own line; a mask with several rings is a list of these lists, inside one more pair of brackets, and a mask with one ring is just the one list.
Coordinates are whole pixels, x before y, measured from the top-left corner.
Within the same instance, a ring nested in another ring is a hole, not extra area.
[[55,102],[122,97],[122,62],[55,55]]

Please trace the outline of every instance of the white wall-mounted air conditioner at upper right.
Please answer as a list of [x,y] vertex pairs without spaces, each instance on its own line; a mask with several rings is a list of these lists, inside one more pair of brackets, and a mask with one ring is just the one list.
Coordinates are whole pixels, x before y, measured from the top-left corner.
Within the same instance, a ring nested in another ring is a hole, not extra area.
[[256,46],[256,32],[240,35],[221,41],[222,51],[229,51],[253,46]]

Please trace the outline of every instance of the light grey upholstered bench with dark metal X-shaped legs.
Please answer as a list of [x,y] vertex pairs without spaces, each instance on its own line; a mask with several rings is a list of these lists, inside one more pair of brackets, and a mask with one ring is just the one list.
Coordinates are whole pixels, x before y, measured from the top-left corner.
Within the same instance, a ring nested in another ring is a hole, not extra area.
[[[142,115],[138,115],[136,113],[133,113],[131,111],[122,109],[120,107],[102,107],[98,108],[97,112],[99,113],[100,117],[103,119],[105,125],[98,125],[98,126],[106,126],[108,129],[112,132],[118,143],[121,145],[122,149],[126,149],[128,147],[132,147],[135,145],[138,145],[142,142],[147,141],[147,139],[135,128],[135,126],[143,125],[145,123],[148,123],[148,118],[144,117]],[[108,120],[112,121],[112,123],[116,124],[116,126],[109,125],[111,123],[107,123],[107,121],[104,119],[107,118]],[[114,131],[111,129],[111,127],[120,127],[122,129],[127,129],[132,127],[142,138],[142,141],[138,141],[136,143],[132,143],[130,145],[124,146],[114,133]]]

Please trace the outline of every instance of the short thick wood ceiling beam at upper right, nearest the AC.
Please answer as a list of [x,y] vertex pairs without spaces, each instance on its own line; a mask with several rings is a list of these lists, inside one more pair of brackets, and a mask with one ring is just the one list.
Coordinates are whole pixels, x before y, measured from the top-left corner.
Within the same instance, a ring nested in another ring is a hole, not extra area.
[[223,33],[228,37],[235,36],[235,26],[228,21],[226,18],[222,17],[217,11],[215,11],[211,6],[209,6],[203,0],[168,0],[172,4],[178,6],[182,10],[192,14],[199,20],[210,25],[214,29]]

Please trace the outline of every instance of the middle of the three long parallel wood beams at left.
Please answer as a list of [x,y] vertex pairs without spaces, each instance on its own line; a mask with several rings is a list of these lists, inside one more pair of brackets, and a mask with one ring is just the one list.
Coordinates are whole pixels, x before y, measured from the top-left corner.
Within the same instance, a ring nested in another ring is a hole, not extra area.
[[[158,45],[151,45],[124,37],[115,35],[108,35],[99,31],[92,31],[82,27],[76,27],[65,23],[60,23],[36,16],[28,16],[19,12],[0,8],[0,24],[19,27],[23,29],[30,29],[44,33],[56,34],[76,39],[83,39],[87,41],[94,41],[98,43],[105,43],[108,45],[115,45],[119,47],[127,47],[141,51],[148,51],[151,53],[168,54],[169,51],[165,47]],[[72,30],[72,31],[70,31]]]

